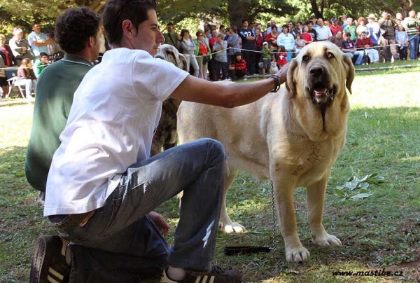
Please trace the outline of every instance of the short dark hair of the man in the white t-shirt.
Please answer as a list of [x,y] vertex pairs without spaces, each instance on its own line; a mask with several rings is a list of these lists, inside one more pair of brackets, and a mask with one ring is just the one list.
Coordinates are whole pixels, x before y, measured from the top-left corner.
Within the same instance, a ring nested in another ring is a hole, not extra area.
[[120,43],[123,38],[123,20],[130,20],[137,32],[139,25],[148,20],[148,11],[157,9],[156,0],[109,0],[106,2],[102,18],[108,42]]

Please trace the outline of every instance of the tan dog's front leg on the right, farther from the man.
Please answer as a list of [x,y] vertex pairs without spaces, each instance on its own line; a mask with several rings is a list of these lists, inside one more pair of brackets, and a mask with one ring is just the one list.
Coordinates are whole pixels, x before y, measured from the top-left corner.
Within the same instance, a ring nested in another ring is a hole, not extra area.
[[341,241],[325,231],[322,225],[323,203],[327,188],[328,176],[307,187],[308,222],[312,240],[321,247],[340,246]]

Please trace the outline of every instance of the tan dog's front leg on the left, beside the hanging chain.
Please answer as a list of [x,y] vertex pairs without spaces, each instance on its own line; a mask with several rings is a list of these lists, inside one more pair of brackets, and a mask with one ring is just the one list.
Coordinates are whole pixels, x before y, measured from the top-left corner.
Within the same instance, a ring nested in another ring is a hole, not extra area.
[[293,205],[293,178],[276,176],[272,178],[281,235],[286,249],[286,261],[304,261],[309,251],[302,246],[297,235],[295,207]]

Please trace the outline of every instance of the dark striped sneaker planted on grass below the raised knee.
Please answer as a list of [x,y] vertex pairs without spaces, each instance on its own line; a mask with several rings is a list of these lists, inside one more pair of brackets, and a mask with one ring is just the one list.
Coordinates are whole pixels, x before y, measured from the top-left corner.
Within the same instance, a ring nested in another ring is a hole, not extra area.
[[160,278],[160,283],[241,283],[242,275],[238,270],[225,270],[220,266],[213,265],[211,266],[211,271],[206,275],[190,275],[187,273],[187,276],[181,281],[175,281],[168,277],[167,268],[163,270],[162,278]]

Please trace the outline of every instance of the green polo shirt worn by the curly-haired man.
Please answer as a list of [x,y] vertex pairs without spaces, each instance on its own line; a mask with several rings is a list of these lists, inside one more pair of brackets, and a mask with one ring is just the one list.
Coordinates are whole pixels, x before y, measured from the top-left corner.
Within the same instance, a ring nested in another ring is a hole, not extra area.
[[59,134],[66,126],[74,92],[90,69],[92,64],[85,58],[66,53],[62,60],[45,68],[38,78],[25,160],[27,180],[38,191],[45,192],[52,156],[61,143]]

